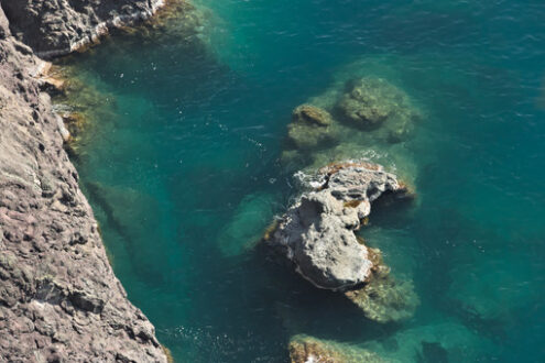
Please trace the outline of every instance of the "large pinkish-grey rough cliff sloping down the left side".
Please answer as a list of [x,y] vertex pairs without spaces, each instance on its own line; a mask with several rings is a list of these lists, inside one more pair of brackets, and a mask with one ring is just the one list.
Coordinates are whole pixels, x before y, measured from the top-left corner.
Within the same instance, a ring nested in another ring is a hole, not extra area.
[[[23,3],[57,2],[9,3],[13,16]],[[108,263],[63,150],[66,130],[34,78],[42,65],[0,9],[0,361],[166,362]]]

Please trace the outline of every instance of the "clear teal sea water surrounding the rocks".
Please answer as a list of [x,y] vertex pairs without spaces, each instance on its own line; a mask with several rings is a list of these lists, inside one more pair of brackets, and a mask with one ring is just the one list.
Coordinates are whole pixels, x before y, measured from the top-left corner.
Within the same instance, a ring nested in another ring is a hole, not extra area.
[[[403,362],[423,340],[451,362],[545,360],[545,6],[205,6],[209,46],[117,36],[67,61],[102,95],[75,158],[83,187],[174,358],[282,362],[307,333]],[[400,324],[237,253],[295,193],[279,162],[291,111],[351,74],[386,78],[425,114],[385,162],[414,174],[418,204],[378,211],[364,231],[421,297]]]

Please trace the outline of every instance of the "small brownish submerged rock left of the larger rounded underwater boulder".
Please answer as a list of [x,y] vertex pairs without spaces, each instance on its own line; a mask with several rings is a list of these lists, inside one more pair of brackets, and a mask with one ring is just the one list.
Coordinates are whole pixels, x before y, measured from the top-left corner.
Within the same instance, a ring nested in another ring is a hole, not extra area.
[[287,125],[287,139],[295,150],[306,151],[331,144],[338,138],[333,118],[312,105],[297,107]]

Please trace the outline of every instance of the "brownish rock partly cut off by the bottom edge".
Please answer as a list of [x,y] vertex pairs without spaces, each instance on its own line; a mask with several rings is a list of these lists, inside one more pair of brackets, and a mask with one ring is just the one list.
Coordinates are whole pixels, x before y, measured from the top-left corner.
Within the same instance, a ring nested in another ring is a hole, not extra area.
[[308,336],[295,336],[290,341],[292,363],[382,363],[390,362],[362,348],[350,346],[334,341],[320,340]]

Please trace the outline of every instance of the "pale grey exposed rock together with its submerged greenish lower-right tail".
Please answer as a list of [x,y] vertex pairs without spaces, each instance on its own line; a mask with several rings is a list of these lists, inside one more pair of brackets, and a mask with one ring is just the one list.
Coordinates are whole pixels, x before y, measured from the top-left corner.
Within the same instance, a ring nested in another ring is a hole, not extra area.
[[380,322],[407,318],[417,305],[412,289],[399,286],[380,258],[356,235],[371,202],[390,195],[407,198],[395,175],[364,162],[334,164],[305,182],[310,191],[281,218],[265,242],[319,288],[341,290],[366,316]]

